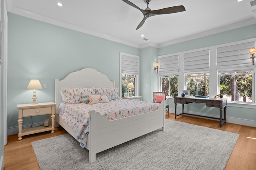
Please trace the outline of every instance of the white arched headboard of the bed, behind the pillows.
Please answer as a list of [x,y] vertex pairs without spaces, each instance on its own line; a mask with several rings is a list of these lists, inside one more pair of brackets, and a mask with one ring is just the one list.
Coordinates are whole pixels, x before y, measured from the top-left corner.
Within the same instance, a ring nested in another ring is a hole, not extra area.
[[60,89],[79,87],[115,87],[115,81],[111,81],[106,75],[90,68],[72,72],[63,80],[55,79],[56,109],[62,103]]

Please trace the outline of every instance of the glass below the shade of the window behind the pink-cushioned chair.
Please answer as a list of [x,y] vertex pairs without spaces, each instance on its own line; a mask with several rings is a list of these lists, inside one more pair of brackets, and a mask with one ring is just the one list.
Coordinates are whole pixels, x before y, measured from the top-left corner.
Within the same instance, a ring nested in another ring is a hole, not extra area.
[[166,95],[169,97],[178,96],[178,85],[179,85],[179,76],[162,76],[162,92],[166,92]]

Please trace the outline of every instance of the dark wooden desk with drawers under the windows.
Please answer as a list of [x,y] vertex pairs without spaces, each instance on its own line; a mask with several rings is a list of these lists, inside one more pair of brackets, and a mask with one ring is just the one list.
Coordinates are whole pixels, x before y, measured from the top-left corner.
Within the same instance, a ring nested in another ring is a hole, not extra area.
[[[182,113],[176,114],[177,103],[182,104]],[[199,117],[208,117],[208,116],[201,116],[201,115],[194,115],[190,113],[184,113],[184,104],[188,103],[206,103],[207,107],[218,107],[220,108],[220,127],[226,123],[226,109],[227,109],[227,99],[215,99],[215,98],[199,98],[199,97],[174,97],[174,104],[175,104],[175,119],[177,116],[186,114],[186,115],[193,115]],[[222,108],[224,108],[224,119],[222,119]],[[212,119],[219,119],[216,117],[208,117]]]

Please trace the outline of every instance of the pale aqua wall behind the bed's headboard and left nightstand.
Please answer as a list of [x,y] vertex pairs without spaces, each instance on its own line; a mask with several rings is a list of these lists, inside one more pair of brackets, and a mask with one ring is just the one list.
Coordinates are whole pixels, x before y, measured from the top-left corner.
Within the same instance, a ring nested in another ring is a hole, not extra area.
[[[48,84],[37,90],[38,102],[54,102],[54,79],[83,68],[106,74],[120,87],[120,52],[140,55],[135,47],[8,13],[8,128],[18,126],[16,105],[32,102],[30,79]],[[33,123],[44,117],[33,117]],[[30,124],[25,117],[23,125]]]

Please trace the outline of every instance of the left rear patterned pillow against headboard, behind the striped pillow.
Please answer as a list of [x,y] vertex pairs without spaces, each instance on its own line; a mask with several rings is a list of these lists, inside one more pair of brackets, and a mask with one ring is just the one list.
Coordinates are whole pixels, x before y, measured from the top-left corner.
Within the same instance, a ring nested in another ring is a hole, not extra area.
[[92,88],[66,88],[61,89],[62,100],[66,103],[82,103],[81,92],[94,94],[94,87]]

